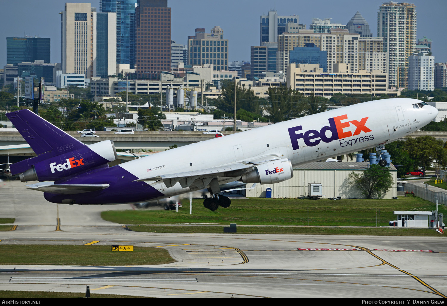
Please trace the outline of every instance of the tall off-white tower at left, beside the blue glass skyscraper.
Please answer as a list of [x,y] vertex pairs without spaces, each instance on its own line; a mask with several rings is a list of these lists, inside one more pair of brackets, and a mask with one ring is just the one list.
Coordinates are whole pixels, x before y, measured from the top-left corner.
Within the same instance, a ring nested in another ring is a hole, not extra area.
[[90,3],[66,3],[61,27],[62,73],[96,76],[96,9]]

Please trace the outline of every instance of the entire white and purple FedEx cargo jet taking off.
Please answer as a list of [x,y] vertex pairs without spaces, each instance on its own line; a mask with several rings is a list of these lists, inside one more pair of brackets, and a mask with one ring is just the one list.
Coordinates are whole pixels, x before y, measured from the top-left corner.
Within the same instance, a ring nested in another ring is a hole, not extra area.
[[[325,160],[397,140],[430,123],[438,110],[393,98],[275,123],[109,167],[112,140],[83,144],[30,110],[6,114],[36,157],[11,165],[21,181],[62,204],[123,204],[160,200],[208,188],[203,205],[228,207],[221,186],[271,184],[293,176],[294,165]],[[381,165],[384,166],[384,165]]]

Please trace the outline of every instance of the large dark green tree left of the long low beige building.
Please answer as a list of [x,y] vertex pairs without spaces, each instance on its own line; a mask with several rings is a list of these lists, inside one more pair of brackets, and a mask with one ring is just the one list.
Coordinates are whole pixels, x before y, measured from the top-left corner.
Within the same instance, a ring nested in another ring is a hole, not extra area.
[[269,87],[270,106],[266,111],[270,115],[267,117],[272,122],[281,122],[296,117],[303,116],[306,102],[303,100],[303,94],[298,90],[292,90],[283,86]]

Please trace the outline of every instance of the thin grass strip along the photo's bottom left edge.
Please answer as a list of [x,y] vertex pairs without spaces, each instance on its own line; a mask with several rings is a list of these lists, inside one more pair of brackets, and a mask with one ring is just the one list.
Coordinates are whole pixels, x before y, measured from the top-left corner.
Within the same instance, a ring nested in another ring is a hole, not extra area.
[[[85,292],[47,292],[47,291],[0,291],[2,298],[83,298]],[[134,295],[90,293],[91,298],[155,298]]]

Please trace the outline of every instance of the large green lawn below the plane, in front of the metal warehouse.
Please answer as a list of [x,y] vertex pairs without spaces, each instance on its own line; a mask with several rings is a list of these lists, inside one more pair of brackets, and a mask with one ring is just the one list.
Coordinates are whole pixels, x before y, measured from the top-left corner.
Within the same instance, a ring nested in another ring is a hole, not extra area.
[[[105,211],[101,217],[119,224],[175,224],[216,223],[240,225],[333,225],[333,226],[388,226],[395,220],[394,210],[432,211],[435,205],[417,197],[398,200],[342,199],[297,200],[250,198],[232,199],[229,208],[212,212],[203,207],[203,200],[183,203],[178,212],[170,210]],[[378,224],[380,210],[380,224]],[[444,205],[439,211],[447,214]],[[428,224],[427,224],[428,225]]]

